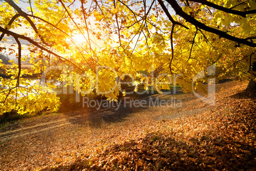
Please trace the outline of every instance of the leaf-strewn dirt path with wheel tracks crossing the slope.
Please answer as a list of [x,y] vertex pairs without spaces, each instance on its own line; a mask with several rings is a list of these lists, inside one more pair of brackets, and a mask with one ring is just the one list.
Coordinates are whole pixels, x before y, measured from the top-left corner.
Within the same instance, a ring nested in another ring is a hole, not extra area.
[[[217,85],[217,91],[222,86],[228,86],[230,83],[222,83]],[[192,93],[188,94],[171,94],[171,95],[150,95],[139,100],[145,100],[148,104],[150,100],[180,100],[181,106],[146,106],[146,107],[130,107],[129,104],[120,108],[105,108],[105,109],[80,109],[78,111],[62,113],[62,114],[49,114],[47,116],[38,116],[27,120],[17,121],[16,123],[5,125],[0,128],[0,144],[19,137],[31,136],[33,134],[43,134],[46,132],[54,132],[54,130],[62,127],[69,127],[76,124],[99,125],[101,121],[107,123],[115,123],[117,121],[126,120],[132,114],[146,113],[152,120],[170,120],[187,116],[188,114],[203,113],[204,111],[214,110],[214,107],[206,106],[206,104],[199,104],[200,100],[197,99]],[[197,105],[196,105],[197,104]],[[196,107],[196,108],[195,108]]]

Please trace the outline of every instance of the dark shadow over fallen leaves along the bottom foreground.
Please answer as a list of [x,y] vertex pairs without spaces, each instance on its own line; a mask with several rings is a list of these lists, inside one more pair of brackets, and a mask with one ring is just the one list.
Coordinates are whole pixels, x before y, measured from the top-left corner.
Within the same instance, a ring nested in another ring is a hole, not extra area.
[[[204,144],[202,146],[202,144]],[[255,168],[255,149],[248,144],[239,152],[222,137],[205,134],[189,143],[162,133],[149,133],[138,141],[111,146],[97,158],[43,170],[250,170]],[[250,152],[248,152],[250,151]],[[111,155],[109,155],[111,154]],[[243,157],[236,157],[236,154]]]

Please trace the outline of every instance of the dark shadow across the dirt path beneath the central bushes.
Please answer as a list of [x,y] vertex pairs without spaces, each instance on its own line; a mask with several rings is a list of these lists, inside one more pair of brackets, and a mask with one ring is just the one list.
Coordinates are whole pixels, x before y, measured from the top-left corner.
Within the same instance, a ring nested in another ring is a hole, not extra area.
[[[91,104],[88,101],[85,107],[64,113],[64,115],[67,116],[67,120],[72,124],[87,124],[90,127],[101,128],[103,124],[122,122],[134,113],[149,109],[150,107],[159,107],[161,101],[171,103],[172,97],[181,94],[183,93],[179,90],[176,94],[171,95],[130,95],[122,97],[118,102],[111,103],[107,102],[106,99],[97,99],[92,100]],[[181,100],[188,101],[191,99]],[[103,106],[103,103],[106,105]]]

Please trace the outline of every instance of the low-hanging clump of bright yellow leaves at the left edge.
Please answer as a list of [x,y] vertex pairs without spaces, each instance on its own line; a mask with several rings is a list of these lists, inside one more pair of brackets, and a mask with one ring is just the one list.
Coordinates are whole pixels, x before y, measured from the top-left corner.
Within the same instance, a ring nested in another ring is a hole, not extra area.
[[[26,60],[27,56],[22,57]],[[4,103],[1,106],[0,114],[16,110],[18,114],[35,114],[43,109],[56,110],[59,107],[59,99],[56,94],[49,92],[43,86],[39,85],[38,81],[31,81],[31,79],[22,78],[23,75],[32,76],[32,72],[22,68],[20,72],[19,88],[17,86],[18,65],[11,60],[13,65],[4,67],[5,74],[11,75],[11,79],[1,79],[1,87],[6,88],[6,91],[0,93],[0,102]],[[2,65],[1,65],[2,66]],[[41,71],[39,71],[41,72]]]

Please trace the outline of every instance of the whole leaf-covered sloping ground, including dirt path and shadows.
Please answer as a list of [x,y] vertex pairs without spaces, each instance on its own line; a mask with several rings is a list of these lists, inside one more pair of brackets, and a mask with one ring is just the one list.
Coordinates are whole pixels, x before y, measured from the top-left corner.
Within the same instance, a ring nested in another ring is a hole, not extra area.
[[256,170],[256,93],[246,85],[217,84],[215,106],[192,93],[151,95],[140,100],[173,104],[83,108],[3,125],[0,170]]

